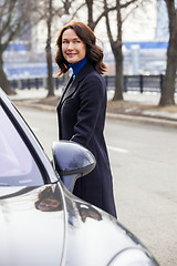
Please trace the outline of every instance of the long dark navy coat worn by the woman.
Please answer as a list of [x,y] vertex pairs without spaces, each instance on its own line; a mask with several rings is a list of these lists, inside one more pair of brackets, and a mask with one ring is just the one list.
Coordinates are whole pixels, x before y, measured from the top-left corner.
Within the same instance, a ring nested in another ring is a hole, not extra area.
[[116,216],[112,173],[104,140],[106,84],[92,64],[86,63],[70,79],[58,105],[59,137],[87,147],[96,167],[76,181],[73,194]]

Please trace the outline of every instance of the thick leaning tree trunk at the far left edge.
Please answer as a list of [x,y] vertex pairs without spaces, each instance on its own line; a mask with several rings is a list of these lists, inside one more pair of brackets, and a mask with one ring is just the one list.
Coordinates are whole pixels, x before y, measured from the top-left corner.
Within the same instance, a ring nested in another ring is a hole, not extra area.
[[8,94],[14,94],[14,90],[11,89],[7,75],[3,71],[2,54],[0,53],[0,88]]

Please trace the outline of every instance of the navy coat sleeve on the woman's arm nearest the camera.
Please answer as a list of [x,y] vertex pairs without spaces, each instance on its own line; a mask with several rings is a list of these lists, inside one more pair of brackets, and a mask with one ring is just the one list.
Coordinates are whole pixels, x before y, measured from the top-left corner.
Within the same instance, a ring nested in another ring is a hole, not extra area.
[[77,122],[74,126],[72,141],[87,146],[94,134],[101,109],[104,108],[102,120],[105,120],[106,109],[106,86],[103,76],[87,76],[80,88],[80,109],[77,112]]

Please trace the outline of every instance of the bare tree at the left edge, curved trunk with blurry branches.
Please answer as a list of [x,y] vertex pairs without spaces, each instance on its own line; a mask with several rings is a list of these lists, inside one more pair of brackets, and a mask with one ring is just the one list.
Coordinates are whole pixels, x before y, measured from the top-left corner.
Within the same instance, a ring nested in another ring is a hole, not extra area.
[[29,27],[32,1],[6,0],[0,2],[0,86],[7,94],[14,93],[3,71],[3,52],[9,43]]

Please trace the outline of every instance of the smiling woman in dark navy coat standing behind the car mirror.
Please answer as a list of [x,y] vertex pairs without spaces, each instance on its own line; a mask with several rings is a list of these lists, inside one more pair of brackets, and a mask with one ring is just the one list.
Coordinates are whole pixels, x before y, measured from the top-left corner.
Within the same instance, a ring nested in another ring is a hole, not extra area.
[[87,147],[96,158],[92,173],[79,178],[74,195],[116,217],[113,183],[103,135],[106,113],[106,71],[103,51],[92,30],[82,22],[71,22],[60,32],[55,62],[58,76],[71,68],[73,75],[58,105],[59,137]]

